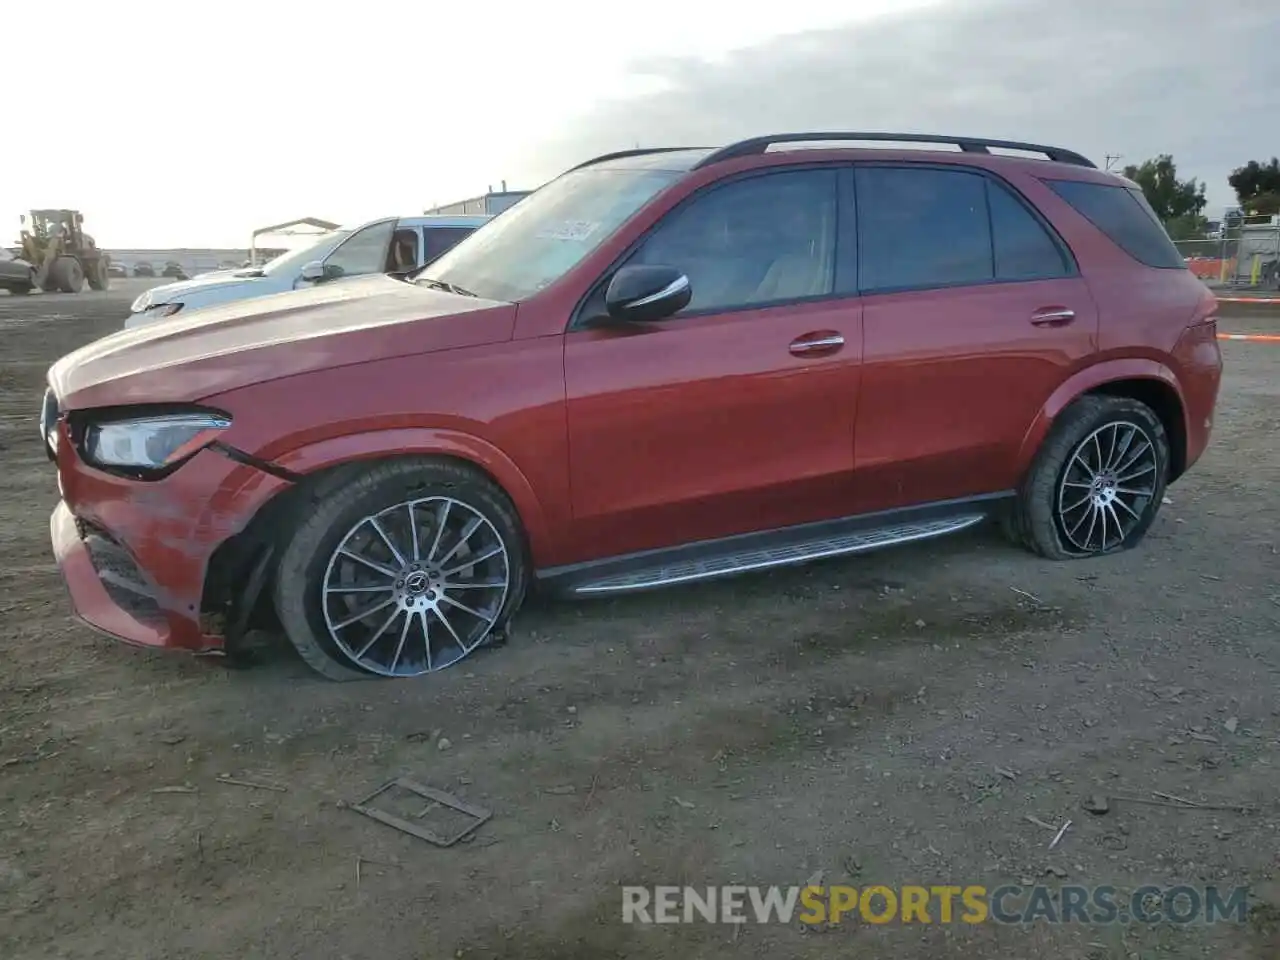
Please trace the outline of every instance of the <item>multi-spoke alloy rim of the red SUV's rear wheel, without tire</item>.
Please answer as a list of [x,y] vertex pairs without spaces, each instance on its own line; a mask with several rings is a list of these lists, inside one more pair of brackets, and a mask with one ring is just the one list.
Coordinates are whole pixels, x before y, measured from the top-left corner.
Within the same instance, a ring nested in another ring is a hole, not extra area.
[[1057,522],[1082,553],[1107,553],[1128,541],[1155,509],[1160,458],[1138,424],[1103,424],[1076,444],[1057,488]]

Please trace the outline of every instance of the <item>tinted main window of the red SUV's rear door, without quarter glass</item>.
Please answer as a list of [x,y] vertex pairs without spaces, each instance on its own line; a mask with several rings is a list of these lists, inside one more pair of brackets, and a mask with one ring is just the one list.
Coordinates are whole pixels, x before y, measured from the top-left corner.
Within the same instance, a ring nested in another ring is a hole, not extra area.
[[965,170],[860,168],[859,285],[891,291],[995,278],[986,178]]

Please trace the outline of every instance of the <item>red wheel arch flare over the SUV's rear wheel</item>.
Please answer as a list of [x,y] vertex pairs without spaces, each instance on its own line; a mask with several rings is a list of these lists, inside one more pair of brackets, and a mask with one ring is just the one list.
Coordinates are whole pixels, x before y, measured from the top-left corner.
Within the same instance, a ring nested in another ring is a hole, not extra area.
[[1161,362],[1147,358],[1108,360],[1076,371],[1041,407],[1023,438],[1018,457],[1019,476],[1025,476],[1057,416],[1085,396],[1128,397],[1147,404],[1160,417],[1169,435],[1169,479],[1187,470],[1187,403],[1176,375]]

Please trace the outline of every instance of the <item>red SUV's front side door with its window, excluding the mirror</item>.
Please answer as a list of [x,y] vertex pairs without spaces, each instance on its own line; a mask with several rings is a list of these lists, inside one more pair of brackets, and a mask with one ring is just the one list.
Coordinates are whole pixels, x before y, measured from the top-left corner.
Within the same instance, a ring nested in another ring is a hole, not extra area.
[[568,333],[577,559],[849,512],[861,329],[833,293],[838,206],[832,169],[700,192],[626,261],[681,269],[692,302]]

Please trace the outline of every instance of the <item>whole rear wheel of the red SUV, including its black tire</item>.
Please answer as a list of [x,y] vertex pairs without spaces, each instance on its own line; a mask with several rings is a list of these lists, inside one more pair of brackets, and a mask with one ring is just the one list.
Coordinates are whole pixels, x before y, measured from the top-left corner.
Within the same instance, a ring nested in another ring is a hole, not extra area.
[[[1059,415],[1001,527],[1015,544],[1055,561],[1130,549],[1160,512],[1169,460],[1169,435],[1151,407],[1128,397],[1080,397]],[[1096,488],[1091,472],[1100,474]]]

